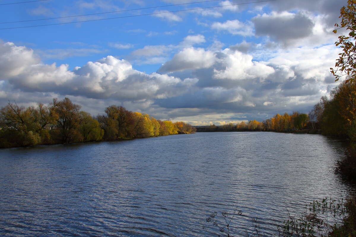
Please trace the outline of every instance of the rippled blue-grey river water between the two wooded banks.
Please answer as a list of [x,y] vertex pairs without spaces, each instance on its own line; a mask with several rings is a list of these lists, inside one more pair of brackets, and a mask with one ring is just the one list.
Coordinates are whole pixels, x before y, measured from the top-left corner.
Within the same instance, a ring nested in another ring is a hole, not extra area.
[[[321,135],[196,133],[0,150],[0,235],[217,236],[211,212],[266,233],[313,200],[354,187],[334,174],[342,143]],[[203,226],[208,226],[203,230]]]

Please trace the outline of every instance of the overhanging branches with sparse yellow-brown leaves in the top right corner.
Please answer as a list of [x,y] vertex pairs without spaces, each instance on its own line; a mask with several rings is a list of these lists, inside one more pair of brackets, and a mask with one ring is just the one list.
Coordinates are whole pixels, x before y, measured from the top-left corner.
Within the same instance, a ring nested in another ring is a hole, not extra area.
[[347,6],[340,9],[341,23],[335,24],[336,34],[339,29],[349,32],[348,36],[340,35],[339,40],[335,42],[336,46],[342,48],[339,59],[336,60],[335,69],[330,68],[331,73],[339,80],[340,77],[347,75],[346,82],[352,82],[356,76],[356,0],[348,0]]

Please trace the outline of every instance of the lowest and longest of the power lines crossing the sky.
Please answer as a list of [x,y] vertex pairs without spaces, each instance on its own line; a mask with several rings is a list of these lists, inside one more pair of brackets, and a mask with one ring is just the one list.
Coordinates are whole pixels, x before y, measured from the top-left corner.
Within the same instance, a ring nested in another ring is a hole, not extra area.
[[82,22],[90,22],[90,21],[103,21],[103,20],[112,20],[112,19],[120,19],[120,18],[129,18],[129,17],[136,17],[136,16],[150,16],[150,15],[158,15],[158,14],[165,14],[165,13],[174,13],[174,12],[183,12],[183,11],[194,11],[194,10],[210,9],[210,8],[216,8],[216,7],[227,7],[227,6],[244,5],[244,4],[252,4],[252,3],[259,3],[259,2],[272,2],[272,1],[278,1],[278,0],[265,0],[265,1],[257,1],[257,2],[245,2],[245,3],[231,4],[231,5],[224,5],[224,6],[201,7],[201,8],[194,8],[194,9],[178,10],[178,11],[157,12],[157,13],[142,14],[142,15],[120,16],[120,17],[112,17],[112,18],[104,18],[104,19],[96,19],[96,20],[73,21],[73,22],[55,23],[55,24],[47,24],[47,25],[0,28],[0,30],[1,30],[1,29],[30,28],[30,27],[39,27],[39,26],[56,26],[56,25],[65,25],[65,24],[82,23]]

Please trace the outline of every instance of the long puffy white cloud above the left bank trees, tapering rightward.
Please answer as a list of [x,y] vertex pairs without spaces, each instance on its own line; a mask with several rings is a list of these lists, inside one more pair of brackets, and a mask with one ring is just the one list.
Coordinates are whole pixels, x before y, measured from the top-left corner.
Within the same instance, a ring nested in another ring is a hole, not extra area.
[[32,50],[12,43],[1,45],[0,53],[6,65],[1,68],[2,84],[25,92],[137,101],[177,96],[196,83],[195,79],[145,74],[112,56],[69,71],[65,64],[42,64]]

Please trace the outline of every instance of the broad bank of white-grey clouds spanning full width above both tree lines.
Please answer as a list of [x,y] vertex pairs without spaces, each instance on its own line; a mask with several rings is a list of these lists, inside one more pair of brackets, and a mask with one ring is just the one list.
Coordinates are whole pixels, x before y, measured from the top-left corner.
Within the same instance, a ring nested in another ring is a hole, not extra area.
[[[32,49],[3,43],[0,103],[5,105],[7,99],[47,103],[52,97],[67,96],[94,114],[120,104],[157,119],[243,113],[246,119],[263,120],[276,113],[308,112],[336,85],[329,68],[339,52],[333,45],[279,49],[257,62],[233,47],[214,51],[189,47],[166,61],[159,73],[146,74],[113,56],[69,70],[66,64],[42,63]],[[151,50],[141,53],[153,55]],[[206,122],[239,120],[242,115]]]

